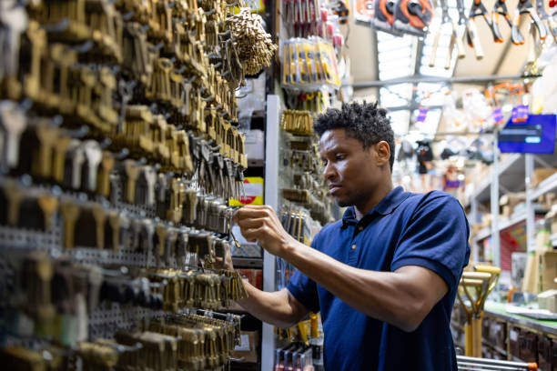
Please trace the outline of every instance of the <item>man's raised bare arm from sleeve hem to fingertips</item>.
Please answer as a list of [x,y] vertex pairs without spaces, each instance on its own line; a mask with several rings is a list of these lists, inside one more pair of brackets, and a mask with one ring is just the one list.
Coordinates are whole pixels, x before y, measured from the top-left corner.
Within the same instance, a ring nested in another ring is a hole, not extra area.
[[348,266],[296,241],[268,206],[245,206],[234,221],[248,241],[296,266],[331,294],[367,316],[413,331],[447,293],[448,286],[430,269],[402,266],[375,272]]

